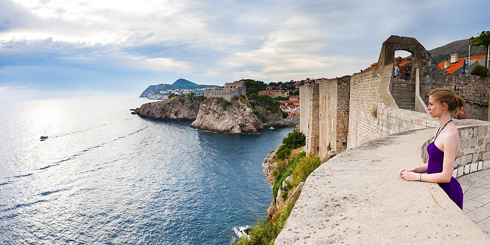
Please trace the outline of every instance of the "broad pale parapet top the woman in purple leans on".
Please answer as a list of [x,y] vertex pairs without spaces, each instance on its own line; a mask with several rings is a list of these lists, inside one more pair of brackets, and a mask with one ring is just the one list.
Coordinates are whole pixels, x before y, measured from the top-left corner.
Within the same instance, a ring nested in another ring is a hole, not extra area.
[[[460,132],[480,127],[488,125]],[[306,179],[275,244],[490,244],[437,183],[399,177],[423,163],[420,149],[433,133],[377,138],[324,162]]]

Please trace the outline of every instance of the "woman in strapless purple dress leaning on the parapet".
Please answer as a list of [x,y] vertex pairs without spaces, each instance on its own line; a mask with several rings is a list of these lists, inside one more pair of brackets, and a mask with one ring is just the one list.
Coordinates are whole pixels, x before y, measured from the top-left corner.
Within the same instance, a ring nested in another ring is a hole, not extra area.
[[[446,194],[463,209],[463,190],[453,175],[454,160],[460,150],[458,129],[451,119],[451,112],[465,105],[465,101],[449,89],[433,89],[429,93],[427,110],[432,118],[439,119],[439,130],[427,146],[429,161],[411,169],[400,170],[405,180],[439,183]],[[427,174],[423,174],[427,172]]]

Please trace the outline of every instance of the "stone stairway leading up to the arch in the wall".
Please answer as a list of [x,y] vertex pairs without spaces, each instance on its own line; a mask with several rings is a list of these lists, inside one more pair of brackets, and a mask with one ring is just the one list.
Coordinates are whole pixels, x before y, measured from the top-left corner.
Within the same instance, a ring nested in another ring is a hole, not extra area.
[[403,79],[393,80],[391,92],[398,108],[415,111],[415,83]]

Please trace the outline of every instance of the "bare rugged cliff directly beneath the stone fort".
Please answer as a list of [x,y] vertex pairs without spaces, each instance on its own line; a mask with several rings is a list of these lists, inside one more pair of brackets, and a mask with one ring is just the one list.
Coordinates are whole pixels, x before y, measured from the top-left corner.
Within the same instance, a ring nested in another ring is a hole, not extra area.
[[265,126],[245,98],[233,97],[231,102],[222,98],[206,99],[191,128],[226,134],[257,134]]

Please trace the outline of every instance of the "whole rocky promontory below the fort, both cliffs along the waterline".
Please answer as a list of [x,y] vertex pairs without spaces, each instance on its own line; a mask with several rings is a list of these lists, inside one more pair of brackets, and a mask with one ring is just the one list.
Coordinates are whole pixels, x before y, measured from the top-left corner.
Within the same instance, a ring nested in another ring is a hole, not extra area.
[[201,96],[172,97],[143,104],[132,114],[155,119],[194,120],[191,128],[224,134],[258,134],[269,127],[287,127],[284,120],[242,96],[231,102]]

